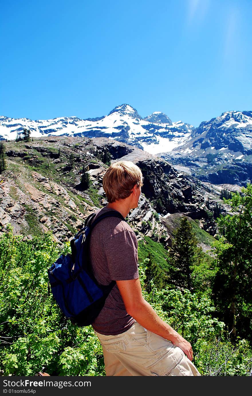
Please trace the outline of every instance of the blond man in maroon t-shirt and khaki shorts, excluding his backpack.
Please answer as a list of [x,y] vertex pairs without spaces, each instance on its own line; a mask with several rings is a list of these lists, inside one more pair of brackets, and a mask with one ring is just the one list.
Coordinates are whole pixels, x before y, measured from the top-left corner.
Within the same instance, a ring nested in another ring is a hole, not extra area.
[[[137,208],[142,172],[130,161],[113,163],[103,178],[108,210],[125,218]],[[137,238],[117,217],[107,217],[91,234],[90,257],[100,284],[116,281],[92,327],[99,338],[107,376],[200,375],[192,364],[192,346],[165,323],[142,296]]]

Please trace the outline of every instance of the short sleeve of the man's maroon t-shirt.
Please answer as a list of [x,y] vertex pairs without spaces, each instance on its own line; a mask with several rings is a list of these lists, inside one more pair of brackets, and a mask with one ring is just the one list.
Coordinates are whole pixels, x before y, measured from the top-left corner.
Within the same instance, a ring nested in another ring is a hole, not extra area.
[[134,232],[123,230],[111,236],[105,249],[112,280],[139,278],[137,238]]

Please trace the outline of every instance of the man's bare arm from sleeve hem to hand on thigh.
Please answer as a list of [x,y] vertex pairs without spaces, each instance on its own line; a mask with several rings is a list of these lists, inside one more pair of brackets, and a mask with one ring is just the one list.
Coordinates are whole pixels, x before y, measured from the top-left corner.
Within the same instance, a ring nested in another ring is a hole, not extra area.
[[179,346],[192,360],[192,346],[177,331],[165,323],[143,298],[140,280],[117,280],[125,308],[142,327]]

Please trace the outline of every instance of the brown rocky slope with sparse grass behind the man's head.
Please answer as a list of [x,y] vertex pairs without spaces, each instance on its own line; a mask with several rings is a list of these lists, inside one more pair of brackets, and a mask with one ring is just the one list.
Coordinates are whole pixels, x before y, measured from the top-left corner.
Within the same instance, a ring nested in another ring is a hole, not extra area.
[[[8,224],[25,238],[51,231],[62,246],[87,215],[106,204],[102,188],[108,168],[102,162],[105,152],[112,161],[131,160],[142,169],[139,208],[128,217],[138,238],[147,235],[169,246],[171,219],[181,215],[214,236],[216,206],[219,212],[227,210],[219,198],[220,189],[200,183],[165,160],[126,143],[103,137],[47,137],[27,143],[5,142],[4,146],[8,169],[0,175],[0,233]],[[83,168],[90,177],[87,190],[80,184]]]

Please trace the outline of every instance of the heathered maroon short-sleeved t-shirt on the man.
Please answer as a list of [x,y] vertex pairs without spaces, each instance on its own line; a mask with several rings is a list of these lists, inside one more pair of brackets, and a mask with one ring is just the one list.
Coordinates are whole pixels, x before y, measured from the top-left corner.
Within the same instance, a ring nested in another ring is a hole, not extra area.
[[[110,210],[107,207],[98,209],[96,216]],[[90,236],[90,257],[96,280],[108,285],[112,280],[139,278],[137,247],[135,232],[125,221],[117,217],[100,221]],[[128,330],[135,322],[125,310],[115,284],[92,327],[100,334],[116,335]]]

